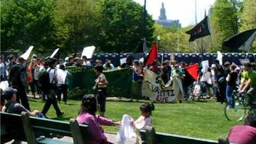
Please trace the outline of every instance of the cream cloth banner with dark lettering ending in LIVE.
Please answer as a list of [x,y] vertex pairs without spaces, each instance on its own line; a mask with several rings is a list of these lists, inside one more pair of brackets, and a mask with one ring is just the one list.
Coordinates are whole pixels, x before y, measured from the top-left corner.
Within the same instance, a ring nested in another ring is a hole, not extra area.
[[162,78],[153,71],[145,70],[142,83],[142,96],[148,97],[156,102],[171,102],[183,95],[182,82],[179,78],[173,78],[164,85]]

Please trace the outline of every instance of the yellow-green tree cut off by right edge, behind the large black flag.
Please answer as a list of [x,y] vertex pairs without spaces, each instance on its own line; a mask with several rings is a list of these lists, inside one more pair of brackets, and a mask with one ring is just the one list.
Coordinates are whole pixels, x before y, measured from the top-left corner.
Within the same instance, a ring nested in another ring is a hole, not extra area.
[[[240,30],[245,31],[256,28],[256,1],[244,0],[243,12],[241,13]],[[251,52],[256,52],[256,42],[254,41]]]

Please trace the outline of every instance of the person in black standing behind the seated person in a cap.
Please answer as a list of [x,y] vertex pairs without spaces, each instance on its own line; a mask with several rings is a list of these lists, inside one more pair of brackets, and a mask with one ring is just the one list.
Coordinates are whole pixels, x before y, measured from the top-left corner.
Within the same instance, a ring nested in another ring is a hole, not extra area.
[[17,89],[17,102],[20,103],[23,107],[30,110],[28,97],[26,93],[26,87],[28,86],[27,81],[27,72],[26,72],[26,61],[25,59],[19,57],[17,64],[13,65],[10,68],[7,81],[11,87]]

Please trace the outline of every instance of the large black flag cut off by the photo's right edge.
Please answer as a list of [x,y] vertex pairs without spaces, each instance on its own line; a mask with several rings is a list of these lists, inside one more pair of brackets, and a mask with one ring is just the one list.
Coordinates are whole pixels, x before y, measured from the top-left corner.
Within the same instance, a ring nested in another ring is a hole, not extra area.
[[256,28],[229,37],[222,43],[223,49],[249,51],[256,36]]

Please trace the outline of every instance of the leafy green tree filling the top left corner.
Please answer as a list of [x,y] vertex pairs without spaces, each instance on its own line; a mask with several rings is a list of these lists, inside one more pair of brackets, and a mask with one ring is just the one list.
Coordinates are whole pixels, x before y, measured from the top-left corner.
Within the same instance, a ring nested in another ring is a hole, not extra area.
[[25,51],[51,48],[53,0],[3,0],[1,3],[1,49]]

